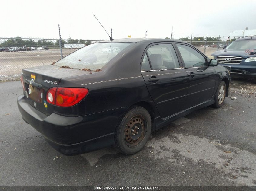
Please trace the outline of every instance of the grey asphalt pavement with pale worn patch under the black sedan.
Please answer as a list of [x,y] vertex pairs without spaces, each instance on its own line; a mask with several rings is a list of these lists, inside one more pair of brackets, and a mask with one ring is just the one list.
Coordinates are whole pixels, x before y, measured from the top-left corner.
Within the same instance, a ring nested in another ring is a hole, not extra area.
[[233,81],[223,107],[197,110],[153,132],[131,156],[113,148],[58,153],[22,120],[20,81],[2,82],[0,89],[2,186],[256,186],[256,84],[250,81]]

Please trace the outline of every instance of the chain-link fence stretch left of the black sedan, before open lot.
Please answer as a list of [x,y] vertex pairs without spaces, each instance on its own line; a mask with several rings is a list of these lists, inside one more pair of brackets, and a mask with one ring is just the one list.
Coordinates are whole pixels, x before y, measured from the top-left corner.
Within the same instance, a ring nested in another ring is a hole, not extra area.
[[0,38],[0,81],[15,80],[22,68],[48,65],[102,40]]

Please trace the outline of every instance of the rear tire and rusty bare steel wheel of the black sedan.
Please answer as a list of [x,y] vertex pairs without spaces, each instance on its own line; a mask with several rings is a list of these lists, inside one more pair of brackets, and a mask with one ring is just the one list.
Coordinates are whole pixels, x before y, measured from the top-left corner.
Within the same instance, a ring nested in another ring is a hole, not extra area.
[[123,154],[135,154],[151,134],[151,116],[140,106],[132,106],[122,116],[115,129],[115,149]]

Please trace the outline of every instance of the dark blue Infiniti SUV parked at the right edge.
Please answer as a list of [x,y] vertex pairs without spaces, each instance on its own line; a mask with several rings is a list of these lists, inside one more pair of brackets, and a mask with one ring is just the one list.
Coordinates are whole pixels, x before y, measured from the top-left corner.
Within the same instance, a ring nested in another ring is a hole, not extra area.
[[238,38],[209,58],[218,59],[231,76],[253,78],[256,83],[256,36]]

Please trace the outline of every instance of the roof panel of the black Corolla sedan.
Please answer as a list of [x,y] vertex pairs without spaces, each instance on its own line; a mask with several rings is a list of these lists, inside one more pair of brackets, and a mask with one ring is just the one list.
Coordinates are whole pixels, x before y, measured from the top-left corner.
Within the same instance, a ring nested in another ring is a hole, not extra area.
[[[105,40],[105,41],[101,41],[101,42],[137,43],[137,42],[141,42],[141,41],[151,41],[151,43],[152,42],[182,42],[182,43],[186,43],[181,40],[165,39],[165,38],[121,38],[121,39],[114,39],[114,40]],[[101,43],[101,42],[99,42],[99,43]]]

